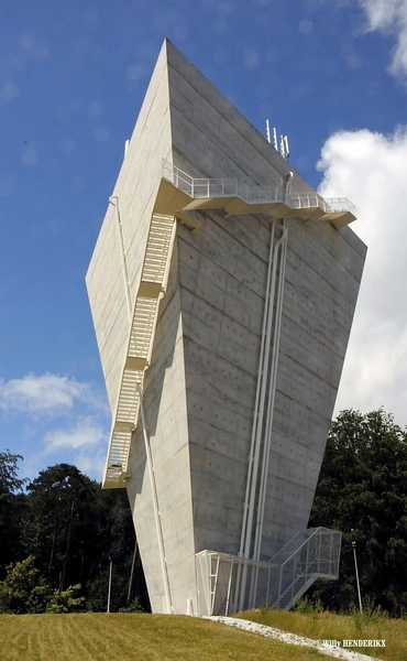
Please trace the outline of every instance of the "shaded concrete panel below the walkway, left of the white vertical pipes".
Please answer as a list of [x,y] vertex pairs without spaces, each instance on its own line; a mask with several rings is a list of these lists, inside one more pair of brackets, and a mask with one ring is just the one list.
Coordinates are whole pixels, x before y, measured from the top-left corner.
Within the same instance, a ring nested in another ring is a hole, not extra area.
[[239,551],[268,242],[267,219],[216,212],[179,241],[196,552]]

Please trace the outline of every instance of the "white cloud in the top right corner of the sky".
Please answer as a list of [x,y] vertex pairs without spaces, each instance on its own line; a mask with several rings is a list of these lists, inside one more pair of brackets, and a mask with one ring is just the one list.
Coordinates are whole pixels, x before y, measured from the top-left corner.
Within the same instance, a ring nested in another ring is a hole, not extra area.
[[367,31],[392,33],[396,37],[393,75],[407,76],[407,0],[359,0],[367,18]]

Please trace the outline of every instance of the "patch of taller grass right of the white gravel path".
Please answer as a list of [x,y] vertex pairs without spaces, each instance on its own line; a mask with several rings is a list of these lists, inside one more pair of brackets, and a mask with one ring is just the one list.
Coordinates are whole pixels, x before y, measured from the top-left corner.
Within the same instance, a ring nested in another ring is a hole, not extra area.
[[[407,620],[391,619],[377,614],[333,615],[332,613],[300,614],[286,610],[249,610],[238,617],[290,631],[315,640],[385,639],[385,648],[349,648],[378,659],[407,661]],[[330,657],[324,657],[328,661]]]

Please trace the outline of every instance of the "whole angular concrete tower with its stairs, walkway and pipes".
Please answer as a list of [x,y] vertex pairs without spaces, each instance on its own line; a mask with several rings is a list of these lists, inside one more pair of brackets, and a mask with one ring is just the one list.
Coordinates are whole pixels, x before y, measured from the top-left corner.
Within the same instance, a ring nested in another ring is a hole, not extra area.
[[306,529],[366,252],[354,218],[164,42],[87,274],[103,485],[128,489],[154,611],[289,607],[337,575],[340,535]]

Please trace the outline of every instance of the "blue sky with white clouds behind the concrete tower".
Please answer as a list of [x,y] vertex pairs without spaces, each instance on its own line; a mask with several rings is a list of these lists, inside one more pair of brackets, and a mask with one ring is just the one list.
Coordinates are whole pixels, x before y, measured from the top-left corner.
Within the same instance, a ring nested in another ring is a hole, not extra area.
[[0,0],[0,449],[100,479],[110,416],[85,288],[167,36],[370,246],[337,410],[407,423],[407,0]]

